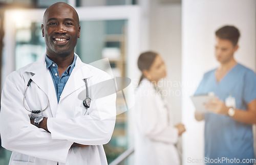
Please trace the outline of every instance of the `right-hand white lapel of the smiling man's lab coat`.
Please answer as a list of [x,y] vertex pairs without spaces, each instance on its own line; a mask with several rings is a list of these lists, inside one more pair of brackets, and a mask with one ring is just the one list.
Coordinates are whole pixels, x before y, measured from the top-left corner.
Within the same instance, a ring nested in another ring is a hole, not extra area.
[[[75,56],[77,56],[77,54],[75,54]],[[87,66],[87,64],[82,63],[80,58],[77,56],[75,67],[71,72],[70,77],[62,91],[59,102],[63,98],[67,97],[68,95],[72,94],[73,92],[84,86],[85,84],[83,79],[89,78],[91,76],[92,74],[90,68]]]

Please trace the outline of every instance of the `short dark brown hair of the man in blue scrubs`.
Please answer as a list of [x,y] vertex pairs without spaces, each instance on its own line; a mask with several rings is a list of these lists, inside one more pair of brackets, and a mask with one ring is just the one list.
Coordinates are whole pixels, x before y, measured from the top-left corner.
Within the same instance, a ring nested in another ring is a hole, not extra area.
[[233,44],[233,46],[236,46],[238,44],[238,40],[240,37],[239,30],[234,26],[228,26],[225,25],[219,30],[215,32],[216,37],[219,37],[220,39],[229,40]]

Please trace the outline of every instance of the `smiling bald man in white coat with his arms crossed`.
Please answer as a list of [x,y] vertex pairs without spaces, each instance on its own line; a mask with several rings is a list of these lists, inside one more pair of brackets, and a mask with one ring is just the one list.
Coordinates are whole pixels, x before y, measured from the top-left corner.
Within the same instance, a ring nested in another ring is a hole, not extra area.
[[[41,29],[46,56],[12,72],[2,92],[0,131],[12,151],[9,164],[108,164],[102,145],[114,130],[116,94],[97,98],[112,87],[90,87],[111,77],[74,53],[80,25],[73,7],[50,6]],[[85,81],[90,107],[83,105]]]

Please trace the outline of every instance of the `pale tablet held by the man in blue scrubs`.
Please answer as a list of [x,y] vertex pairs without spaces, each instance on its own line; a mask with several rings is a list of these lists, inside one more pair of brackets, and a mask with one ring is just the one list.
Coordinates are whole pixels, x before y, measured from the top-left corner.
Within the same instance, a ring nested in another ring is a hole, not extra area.
[[215,99],[216,96],[212,95],[195,95],[190,96],[190,99],[192,100],[197,113],[206,113],[209,112],[208,109],[205,108],[205,103],[207,103],[211,99]]

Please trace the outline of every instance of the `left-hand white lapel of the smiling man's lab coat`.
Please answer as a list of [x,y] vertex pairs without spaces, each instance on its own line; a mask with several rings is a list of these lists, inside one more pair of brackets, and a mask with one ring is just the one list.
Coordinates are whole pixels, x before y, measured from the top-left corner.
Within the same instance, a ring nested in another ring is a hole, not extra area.
[[32,64],[29,68],[26,69],[26,71],[34,73],[31,79],[47,95],[50,101],[52,116],[54,117],[56,114],[55,111],[57,109],[58,102],[52,76],[49,70],[46,68],[45,56]]

